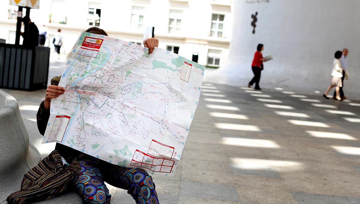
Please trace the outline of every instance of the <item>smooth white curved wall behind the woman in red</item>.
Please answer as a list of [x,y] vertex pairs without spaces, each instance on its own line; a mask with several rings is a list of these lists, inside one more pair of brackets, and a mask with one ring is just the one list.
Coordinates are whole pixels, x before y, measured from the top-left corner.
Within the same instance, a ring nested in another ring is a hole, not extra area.
[[[350,80],[345,95],[360,98],[360,1],[270,0],[265,4],[235,1],[233,34],[222,82],[247,86],[253,77],[251,63],[258,43],[263,55],[273,60],[264,64],[260,86],[287,90],[324,92],[330,83],[334,53],[349,49]],[[258,12],[256,33],[251,14]]]

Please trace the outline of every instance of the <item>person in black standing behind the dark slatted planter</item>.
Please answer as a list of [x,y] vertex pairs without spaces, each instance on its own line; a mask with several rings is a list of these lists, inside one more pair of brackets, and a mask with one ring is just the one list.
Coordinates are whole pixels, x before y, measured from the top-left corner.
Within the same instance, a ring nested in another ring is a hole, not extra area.
[[28,16],[24,16],[21,21],[24,23],[24,25],[26,23],[29,24],[27,32],[20,32],[21,36],[23,37],[23,45],[28,47],[35,47],[39,45],[39,29],[37,29],[35,23],[31,22],[31,19]]

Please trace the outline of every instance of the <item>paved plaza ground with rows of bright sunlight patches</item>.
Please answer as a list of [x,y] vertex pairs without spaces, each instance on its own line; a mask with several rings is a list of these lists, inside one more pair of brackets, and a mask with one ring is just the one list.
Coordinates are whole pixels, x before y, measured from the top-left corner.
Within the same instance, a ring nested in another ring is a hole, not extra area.
[[[52,62],[49,76],[62,66]],[[54,148],[40,144],[36,126],[45,90],[4,91],[45,157]],[[161,203],[360,203],[360,101],[286,91],[204,83],[175,175],[153,177]],[[112,203],[134,203],[109,189]]]

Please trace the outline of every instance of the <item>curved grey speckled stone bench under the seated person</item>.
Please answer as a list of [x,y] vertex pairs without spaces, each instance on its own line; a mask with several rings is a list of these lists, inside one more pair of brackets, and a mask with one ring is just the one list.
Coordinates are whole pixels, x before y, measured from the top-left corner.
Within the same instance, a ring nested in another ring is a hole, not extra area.
[[[0,107],[0,204],[6,204],[6,198],[20,190],[24,174],[32,168],[26,158],[33,155],[29,155],[29,136],[16,99],[0,90]],[[37,203],[81,204],[82,199],[70,192]]]

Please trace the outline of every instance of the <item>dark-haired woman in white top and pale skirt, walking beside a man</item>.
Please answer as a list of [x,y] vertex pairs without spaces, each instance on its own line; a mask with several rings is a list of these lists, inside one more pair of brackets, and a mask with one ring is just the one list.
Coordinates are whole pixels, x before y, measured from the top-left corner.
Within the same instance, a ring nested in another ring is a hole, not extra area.
[[336,51],[335,53],[335,59],[334,59],[334,63],[333,63],[333,70],[331,72],[331,76],[333,76],[331,78],[331,84],[328,87],[328,89],[325,91],[325,93],[323,94],[323,96],[326,99],[329,99],[328,92],[335,86],[335,91],[336,91],[336,99],[337,100],[341,100],[340,96],[339,96],[339,90],[340,87],[342,87],[342,82],[341,82],[341,77],[342,77],[342,72],[343,72],[343,68],[341,67],[341,62],[340,62],[340,58],[342,55],[342,51]]

